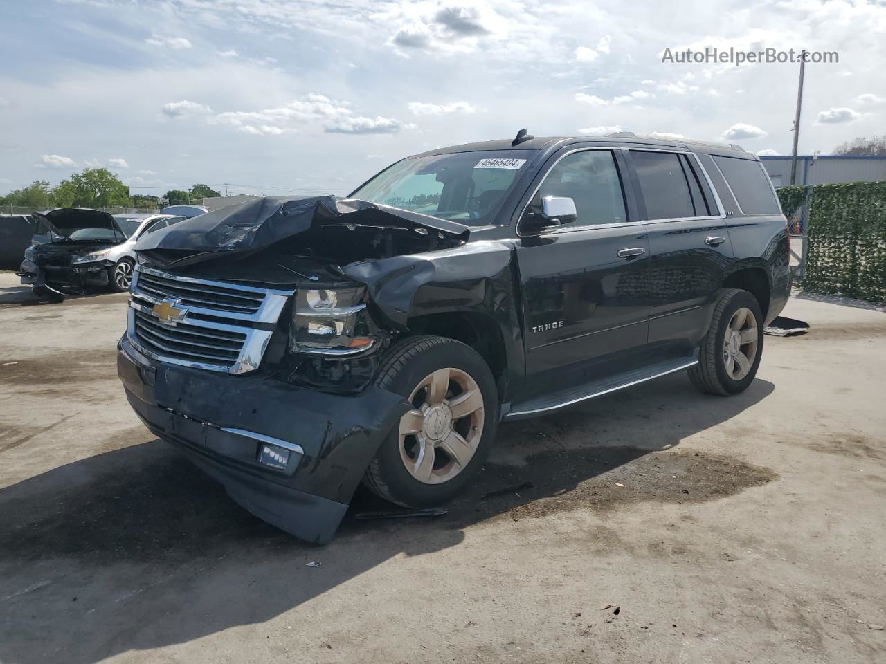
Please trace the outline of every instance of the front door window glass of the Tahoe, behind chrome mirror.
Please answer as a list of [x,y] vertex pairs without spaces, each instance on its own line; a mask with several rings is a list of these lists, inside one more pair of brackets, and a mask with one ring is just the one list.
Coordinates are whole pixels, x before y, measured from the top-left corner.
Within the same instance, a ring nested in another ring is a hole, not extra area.
[[546,196],[575,201],[578,218],[566,228],[593,224],[618,224],[627,220],[625,196],[612,153],[606,150],[573,152],[545,175],[532,208],[540,210]]

